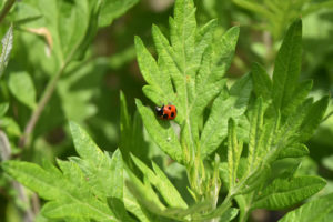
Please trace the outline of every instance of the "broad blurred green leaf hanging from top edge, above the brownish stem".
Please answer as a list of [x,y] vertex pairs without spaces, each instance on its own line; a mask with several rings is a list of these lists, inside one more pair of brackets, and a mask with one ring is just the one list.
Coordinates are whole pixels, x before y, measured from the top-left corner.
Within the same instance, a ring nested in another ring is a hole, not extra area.
[[39,0],[43,26],[52,37],[52,56],[58,60],[58,69],[82,59],[97,33],[100,8],[100,0]]

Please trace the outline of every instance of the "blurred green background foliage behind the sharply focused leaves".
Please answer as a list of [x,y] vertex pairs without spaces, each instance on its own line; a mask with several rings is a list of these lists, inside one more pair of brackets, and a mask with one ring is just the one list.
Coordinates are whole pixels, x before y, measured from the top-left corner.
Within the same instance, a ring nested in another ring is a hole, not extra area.
[[[57,67],[49,56],[52,50],[48,42],[48,33],[38,34],[36,30],[31,30],[43,26],[39,23],[40,12],[31,7],[30,2],[17,1],[0,24],[1,38],[11,22],[16,24],[13,50],[0,80],[0,103],[10,104],[7,114],[0,119],[0,128],[10,139],[13,158],[41,163],[43,158],[54,161],[56,158],[74,155],[68,128],[69,120],[79,122],[101,149],[114,151],[120,140],[120,91],[125,94],[132,114],[135,112],[134,98],[140,98],[151,107],[155,105],[148,101],[141,91],[144,81],[135,61],[133,38],[140,36],[154,54],[151,26],[158,24],[168,34],[173,1],[133,1],[133,6],[122,16],[118,14],[110,26],[100,28],[84,58],[70,63],[62,74],[36,125],[33,137],[22,151],[18,148],[18,140],[36,103],[22,102],[16,95],[17,85],[12,84],[18,79],[23,81],[28,74],[30,78],[26,78],[23,85],[31,80],[34,88],[34,94],[31,97],[39,101]],[[0,1],[0,6],[3,9],[6,1]],[[236,54],[228,72],[230,81],[250,72],[252,62],[260,62],[271,73],[285,30],[293,20],[302,18],[302,79],[313,79],[314,98],[333,92],[333,1],[196,0],[195,6],[199,26],[218,19],[216,39],[230,27],[241,27]],[[67,6],[63,7],[61,13],[67,13]],[[67,36],[67,29],[71,28],[63,27],[61,34]],[[320,174],[329,181],[329,185],[320,195],[333,192],[333,117],[330,115],[332,111],[331,100],[327,118],[309,142],[310,157],[301,167],[301,173]],[[152,147],[150,144],[143,148],[145,150],[141,152],[147,153],[143,154],[144,158],[163,157]],[[176,170],[168,169],[168,161],[162,161],[161,164],[164,164],[164,170],[171,178],[179,178],[180,173]],[[13,202],[16,195],[8,179],[1,174],[0,221],[20,221],[16,215],[18,210],[14,205],[22,203]],[[280,214],[276,213],[278,216]],[[254,213],[253,220],[274,221],[276,215],[262,211]]]

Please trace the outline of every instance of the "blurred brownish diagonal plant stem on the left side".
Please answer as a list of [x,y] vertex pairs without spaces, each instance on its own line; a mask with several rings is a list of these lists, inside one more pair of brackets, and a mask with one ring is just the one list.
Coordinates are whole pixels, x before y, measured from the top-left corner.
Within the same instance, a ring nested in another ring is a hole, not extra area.
[[60,68],[60,70],[57,72],[57,74],[54,77],[52,77],[52,79],[49,81],[40,101],[38,102],[37,108],[34,109],[32,115],[29,119],[29,122],[24,129],[23,135],[20,138],[19,141],[19,147],[20,148],[24,148],[28,141],[29,135],[32,133],[36,123],[38,122],[42,111],[44,110],[47,103],[50,101],[56,85],[61,77],[61,74],[64,72],[64,69],[67,67],[68,62],[63,63],[63,65]]

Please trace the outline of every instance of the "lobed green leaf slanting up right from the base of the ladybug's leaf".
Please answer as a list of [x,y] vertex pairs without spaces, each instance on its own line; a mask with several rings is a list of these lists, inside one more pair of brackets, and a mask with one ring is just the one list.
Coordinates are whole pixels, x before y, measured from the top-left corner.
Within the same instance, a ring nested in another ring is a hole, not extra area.
[[252,81],[250,75],[245,75],[232,85],[230,94],[222,91],[214,100],[200,140],[203,158],[218,149],[225,139],[229,118],[236,122],[245,112],[251,90]]

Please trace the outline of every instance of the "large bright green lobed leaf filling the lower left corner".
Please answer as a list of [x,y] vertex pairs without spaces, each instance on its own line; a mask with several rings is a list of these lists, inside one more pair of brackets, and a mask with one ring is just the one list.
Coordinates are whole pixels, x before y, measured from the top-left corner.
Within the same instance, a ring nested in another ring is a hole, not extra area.
[[114,152],[112,158],[103,153],[75,123],[71,123],[71,132],[81,158],[58,160],[61,171],[49,162],[41,168],[28,162],[7,161],[2,168],[49,201],[42,209],[47,218],[121,221],[118,216],[124,215],[115,214],[107,202],[108,198],[123,202],[120,152]]

